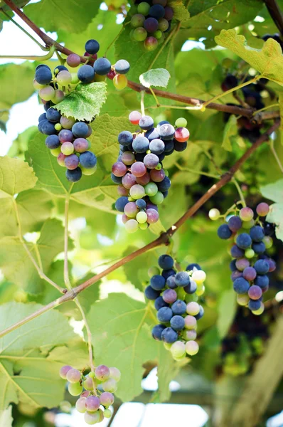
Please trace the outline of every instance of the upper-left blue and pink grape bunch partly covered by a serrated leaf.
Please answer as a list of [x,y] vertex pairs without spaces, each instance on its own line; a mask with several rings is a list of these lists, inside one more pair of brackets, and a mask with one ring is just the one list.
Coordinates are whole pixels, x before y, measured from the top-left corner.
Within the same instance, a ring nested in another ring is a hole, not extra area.
[[[117,89],[127,86],[127,60],[118,60],[112,66],[107,58],[97,59],[99,49],[100,45],[96,40],[89,40],[85,43],[85,57],[91,59],[93,65],[81,65],[76,73],[70,73],[65,65],[58,65],[52,73],[48,65],[41,64],[36,67],[33,80],[33,86],[39,90],[39,97],[46,110],[38,118],[38,130],[47,135],[46,146],[57,157],[58,164],[67,168],[66,178],[71,182],[79,181],[82,174],[95,173],[97,159],[90,152],[90,142],[87,140],[92,128],[90,122],[79,122],[73,117],[61,115],[55,105],[75,90],[78,83],[87,85],[105,80],[108,76]],[[66,63],[70,68],[78,67],[80,56],[71,53]]]

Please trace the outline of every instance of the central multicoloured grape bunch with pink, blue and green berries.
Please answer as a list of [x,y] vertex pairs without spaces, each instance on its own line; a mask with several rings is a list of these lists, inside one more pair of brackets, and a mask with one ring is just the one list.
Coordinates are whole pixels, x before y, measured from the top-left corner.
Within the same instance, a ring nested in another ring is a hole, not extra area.
[[134,233],[159,220],[158,205],[171,186],[162,160],[174,150],[186,149],[190,133],[183,118],[176,120],[176,128],[165,120],[155,128],[154,120],[138,111],[131,112],[129,120],[140,129],[119,134],[120,152],[112,166],[112,181],[119,184],[115,207],[123,213],[126,230]]

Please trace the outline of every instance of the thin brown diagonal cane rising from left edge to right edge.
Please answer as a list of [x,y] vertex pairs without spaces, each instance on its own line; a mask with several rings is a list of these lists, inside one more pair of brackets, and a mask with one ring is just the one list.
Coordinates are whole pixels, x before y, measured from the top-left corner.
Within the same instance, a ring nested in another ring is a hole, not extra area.
[[191,218],[193,214],[196,214],[198,209],[205,204],[206,201],[208,201],[215,193],[217,193],[220,189],[223,188],[228,182],[233,179],[233,176],[235,175],[235,172],[237,172],[240,167],[242,167],[242,164],[245,163],[245,161],[256,151],[260,145],[262,145],[264,142],[266,142],[269,139],[269,136],[278,129],[279,127],[279,120],[274,122],[274,124],[269,127],[269,130],[261,135],[259,139],[257,139],[257,142],[255,144],[252,144],[252,146],[247,149],[247,151],[240,157],[240,159],[235,162],[233,167],[229,169],[228,172],[225,172],[223,176],[221,176],[220,180],[213,184],[213,186],[206,191],[203,196],[201,196],[201,199],[198,199],[198,201],[191,206],[191,208],[186,211],[181,218],[176,221],[165,233],[162,233],[159,238],[156,238],[153,242],[149,243],[148,245],[144,246],[143,248],[138,249],[137,251],[134,251],[133,253],[130,253],[129,255],[125,256],[121,260],[118,260],[117,263],[114,263],[106,270],[102,271],[101,273],[93,276],[92,278],[86,280],[81,285],[78,285],[76,288],[71,288],[68,290],[68,292],[65,293],[62,297],[58,298],[57,300],[50,302],[50,304],[46,305],[45,307],[42,307],[40,310],[37,310],[32,315],[29,315],[28,317],[25,317],[23,320],[20,320],[19,322],[16,322],[14,325],[11,325],[10,327],[7,327],[5,330],[2,330],[0,332],[0,338],[4,337],[4,335],[8,334],[11,331],[16,330],[18,327],[21,327],[22,325],[25,325],[26,323],[30,322],[31,320],[35,319],[36,317],[42,315],[43,313],[47,312],[48,310],[51,310],[54,307],[58,307],[58,305],[63,304],[63,302],[67,302],[70,300],[74,300],[75,297],[85,290],[86,288],[89,288],[94,283],[97,283],[98,280],[101,278],[104,278],[108,274],[112,273],[112,271],[117,270],[117,268],[121,267],[122,265],[129,263],[129,261],[134,260],[134,258],[137,258],[139,255],[142,255],[142,253],[145,253],[147,251],[151,251],[151,249],[157,248],[161,245],[169,245],[170,238],[173,236],[174,233],[180,228],[183,223],[187,221],[188,218]]

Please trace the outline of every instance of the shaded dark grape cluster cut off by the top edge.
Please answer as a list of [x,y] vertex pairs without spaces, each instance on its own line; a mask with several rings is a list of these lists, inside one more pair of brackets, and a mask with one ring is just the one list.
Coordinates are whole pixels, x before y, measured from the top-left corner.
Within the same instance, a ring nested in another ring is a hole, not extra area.
[[167,0],[136,1],[137,14],[131,19],[133,41],[144,43],[146,51],[154,51],[164,41],[164,33],[170,31],[173,9]]

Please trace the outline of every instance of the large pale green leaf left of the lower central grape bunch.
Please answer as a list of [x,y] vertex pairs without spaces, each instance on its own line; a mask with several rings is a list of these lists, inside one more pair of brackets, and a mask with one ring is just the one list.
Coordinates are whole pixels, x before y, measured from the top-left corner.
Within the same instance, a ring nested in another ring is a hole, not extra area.
[[142,393],[142,365],[156,358],[161,344],[151,337],[149,310],[144,302],[113,293],[107,300],[95,302],[87,315],[95,361],[121,371],[115,394],[122,401],[131,401]]

